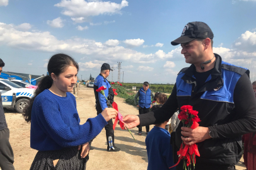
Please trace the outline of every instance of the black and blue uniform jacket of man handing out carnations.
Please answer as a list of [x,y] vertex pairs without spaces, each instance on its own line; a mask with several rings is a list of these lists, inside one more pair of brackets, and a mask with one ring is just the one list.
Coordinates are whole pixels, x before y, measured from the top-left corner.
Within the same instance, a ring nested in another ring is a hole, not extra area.
[[[241,158],[241,135],[256,132],[255,96],[249,71],[214,55],[214,68],[201,88],[197,88],[195,66],[182,69],[166,103],[154,112],[139,115],[140,126],[161,123],[177,108],[191,105],[199,111],[199,125],[209,127],[212,133],[212,139],[197,143],[201,157],[197,157],[196,164],[234,165]],[[182,144],[181,127],[182,122],[176,130],[178,148]]]

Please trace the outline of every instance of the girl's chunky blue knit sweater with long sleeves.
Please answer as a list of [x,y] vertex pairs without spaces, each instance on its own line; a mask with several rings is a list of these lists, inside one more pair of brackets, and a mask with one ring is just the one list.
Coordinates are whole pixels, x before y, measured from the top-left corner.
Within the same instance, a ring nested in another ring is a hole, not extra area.
[[[85,111],[84,111],[85,112]],[[79,125],[76,99],[67,93],[60,97],[45,89],[32,107],[30,147],[36,150],[59,150],[85,144],[107,125],[102,114]]]

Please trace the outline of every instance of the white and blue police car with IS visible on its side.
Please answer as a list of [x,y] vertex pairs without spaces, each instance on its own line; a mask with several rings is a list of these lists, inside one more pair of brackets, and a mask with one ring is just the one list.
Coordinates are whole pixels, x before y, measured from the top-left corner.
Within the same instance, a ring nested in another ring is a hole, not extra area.
[[4,108],[15,108],[18,113],[24,113],[23,110],[34,92],[34,89],[23,88],[7,79],[0,79],[0,93]]

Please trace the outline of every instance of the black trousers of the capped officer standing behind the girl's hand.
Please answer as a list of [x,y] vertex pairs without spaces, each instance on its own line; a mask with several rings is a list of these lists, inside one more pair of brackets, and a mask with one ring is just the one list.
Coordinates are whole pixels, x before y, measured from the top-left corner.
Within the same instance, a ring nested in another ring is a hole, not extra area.
[[[96,111],[97,111],[97,115],[102,113],[102,108],[100,105],[96,105]],[[112,140],[112,144],[115,145],[112,119],[108,120],[108,124],[105,126],[105,130],[106,130],[106,137],[107,137],[107,145],[109,146],[109,144],[111,143],[111,140]],[[92,141],[93,140],[90,141],[90,144]]]

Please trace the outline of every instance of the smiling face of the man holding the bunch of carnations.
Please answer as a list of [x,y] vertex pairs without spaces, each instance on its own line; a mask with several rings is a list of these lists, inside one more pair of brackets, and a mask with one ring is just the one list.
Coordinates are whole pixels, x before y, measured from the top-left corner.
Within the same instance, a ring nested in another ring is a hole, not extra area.
[[193,40],[189,43],[182,43],[182,54],[185,57],[185,62],[189,64],[200,64],[201,62],[204,62],[203,60],[203,52],[204,52],[204,46],[202,45],[202,42],[199,42],[197,40]]

